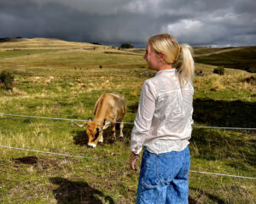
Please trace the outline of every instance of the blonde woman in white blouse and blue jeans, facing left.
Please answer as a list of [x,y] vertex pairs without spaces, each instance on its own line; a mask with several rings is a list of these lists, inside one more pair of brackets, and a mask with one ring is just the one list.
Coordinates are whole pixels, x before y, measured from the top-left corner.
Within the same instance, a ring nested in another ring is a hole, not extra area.
[[191,50],[168,34],[148,39],[143,58],[157,73],[143,83],[131,132],[131,169],[136,170],[143,150],[137,204],[188,203],[195,70]]

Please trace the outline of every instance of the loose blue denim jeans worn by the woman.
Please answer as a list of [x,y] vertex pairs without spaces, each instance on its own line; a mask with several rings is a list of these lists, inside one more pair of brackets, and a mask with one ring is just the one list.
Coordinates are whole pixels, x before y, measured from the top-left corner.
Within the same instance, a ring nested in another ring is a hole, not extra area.
[[188,146],[160,155],[144,147],[137,204],[189,203],[189,166]]

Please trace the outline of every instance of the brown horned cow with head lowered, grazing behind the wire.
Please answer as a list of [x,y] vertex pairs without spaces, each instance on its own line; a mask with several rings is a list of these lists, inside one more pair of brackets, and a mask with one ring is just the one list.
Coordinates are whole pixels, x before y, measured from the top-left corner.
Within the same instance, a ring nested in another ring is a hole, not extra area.
[[111,133],[113,141],[115,138],[115,122],[120,123],[120,134],[119,137],[124,137],[124,117],[126,112],[125,98],[119,94],[102,94],[102,96],[97,99],[94,108],[95,119],[94,122],[91,121],[85,123],[84,125],[79,125],[79,127],[85,127],[88,136],[88,145],[90,147],[96,147],[98,142],[103,142],[103,130],[108,128],[111,124]]

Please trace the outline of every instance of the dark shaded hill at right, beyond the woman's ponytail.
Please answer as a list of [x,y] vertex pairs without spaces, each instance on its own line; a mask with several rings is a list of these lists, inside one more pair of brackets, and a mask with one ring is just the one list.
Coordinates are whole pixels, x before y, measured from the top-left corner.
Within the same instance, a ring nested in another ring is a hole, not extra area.
[[241,48],[195,48],[195,62],[256,73],[256,46]]

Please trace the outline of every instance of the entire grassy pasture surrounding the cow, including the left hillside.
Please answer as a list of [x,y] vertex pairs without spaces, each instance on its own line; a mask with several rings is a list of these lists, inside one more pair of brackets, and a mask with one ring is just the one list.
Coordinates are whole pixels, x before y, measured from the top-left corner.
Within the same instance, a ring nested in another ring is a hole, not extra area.
[[[195,48],[195,56],[231,50]],[[215,67],[196,64],[203,76],[194,82],[194,125],[255,127],[255,80],[248,80],[255,75],[225,69],[225,75],[218,76],[212,74]],[[143,49],[43,38],[1,42],[3,70],[14,74],[15,88],[0,88],[0,113],[87,119],[93,117],[96,99],[113,92],[125,96],[125,122],[133,122],[141,86],[151,75]],[[125,125],[125,138],[115,144],[107,130],[104,143],[90,149],[84,130],[68,121],[0,116],[1,145],[86,157],[0,147],[0,203],[135,203],[138,171],[131,172],[126,164],[131,129]],[[253,131],[194,128],[191,170],[255,178],[255,141]],[[255,203],[255,192],[253,179],[189,174],[192,204]]]

